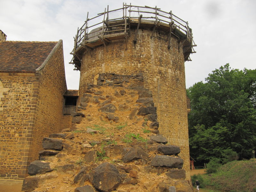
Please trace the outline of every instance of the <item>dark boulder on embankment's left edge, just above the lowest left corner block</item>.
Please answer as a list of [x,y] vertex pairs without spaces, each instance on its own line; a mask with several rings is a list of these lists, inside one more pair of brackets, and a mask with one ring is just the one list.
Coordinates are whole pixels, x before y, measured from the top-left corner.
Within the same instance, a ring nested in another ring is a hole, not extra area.
[[50,163],[46,161],[33,161],[28,166],[28,174],[29,175],[36,175],[38,173],[44,173],[48,171],[52,171],[53,169],[50,167]]

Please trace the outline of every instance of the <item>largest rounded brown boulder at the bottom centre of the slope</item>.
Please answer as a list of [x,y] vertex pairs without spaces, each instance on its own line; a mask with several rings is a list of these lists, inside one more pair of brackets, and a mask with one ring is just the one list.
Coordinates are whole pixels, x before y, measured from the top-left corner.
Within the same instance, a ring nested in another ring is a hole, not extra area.
[[92,170],[91,180],[95,188],[103,192],[109,192],[120,185],[121,175],[115,165],[105,162]]

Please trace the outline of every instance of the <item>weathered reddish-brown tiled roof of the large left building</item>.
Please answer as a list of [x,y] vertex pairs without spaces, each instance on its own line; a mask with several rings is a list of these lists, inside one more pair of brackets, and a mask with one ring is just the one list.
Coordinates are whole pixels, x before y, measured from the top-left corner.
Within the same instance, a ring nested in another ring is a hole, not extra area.
[[3,41],[0,72],[35,73],[58,42]]

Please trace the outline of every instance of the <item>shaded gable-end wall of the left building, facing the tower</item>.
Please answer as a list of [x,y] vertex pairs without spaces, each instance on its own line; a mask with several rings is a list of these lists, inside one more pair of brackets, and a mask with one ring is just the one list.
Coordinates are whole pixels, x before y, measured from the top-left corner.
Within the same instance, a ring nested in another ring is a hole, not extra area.
[[63,117],[63,94],[67,90],[62,41],[49,54],[42,68],[37,72],[38,87],[35,92],[34,130],[32,147],[29,150],[28,164],[38,160],[38,151],[42,150],[42,139],[51,133],[60,132]]

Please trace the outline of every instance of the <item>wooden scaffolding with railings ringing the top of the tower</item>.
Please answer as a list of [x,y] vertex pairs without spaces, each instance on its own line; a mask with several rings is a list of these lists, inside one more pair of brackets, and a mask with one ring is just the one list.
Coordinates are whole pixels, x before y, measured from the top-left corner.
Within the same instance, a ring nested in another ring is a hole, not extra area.
[[184,61],[191,61],[190,54],[196,53],[194,50],[196,44],[193,40],[192,30],[188,27],[188,22],[172,14],[172,11],[164,12],[157,7],[142,7],[123,3],[122,8],[109,11],[107,7],[104,12],[93,18],[89,18],[88,15],[89,12],[87,12],[84,25],[77,28],[74,37],[74,48],[70,53],[73,55],[70,64],[75,65],[74,70],[80,70],[84,51],[91,54],[90,50],[102,44],[108,51],[107,45],[111,41],[126,39],[127,42],[131,28],[136,28],[135,36],[132,37],[133,43],[137,42],[139,28],[151,28],[151,38],[155,30],[158,29],[166,31],[168,34],[166,38],[168,49],[171,47],[171,36],[178,38],[178,49],[183,49]]

